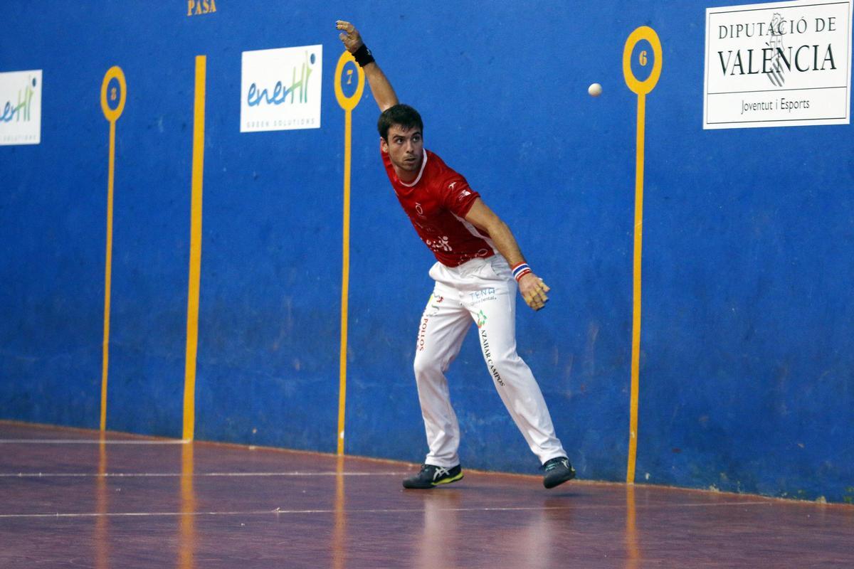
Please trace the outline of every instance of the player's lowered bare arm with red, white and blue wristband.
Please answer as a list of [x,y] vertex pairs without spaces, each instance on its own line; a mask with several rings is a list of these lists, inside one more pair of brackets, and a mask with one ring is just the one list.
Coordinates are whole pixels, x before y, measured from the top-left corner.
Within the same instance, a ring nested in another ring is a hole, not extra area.
[[486,231],[495,244],[495,248],[506,259],[507,264],[511,267],[518,267],[513,272],[514,274],[518,273],[519,293],[525,299],[525,304],[535,311],[545,306],[548,300],[546,293],[549,291],[549,287],[545,282],[542,282],[541,278],[531,272],[528,264],[525,264],[525,258],[522,256],[516,238],[513,237],[507,224],[501,221],[501,218],[495,215],[480,198],[477,198],[472,204],[471,209],[465,215],[465,221],[477,229]]

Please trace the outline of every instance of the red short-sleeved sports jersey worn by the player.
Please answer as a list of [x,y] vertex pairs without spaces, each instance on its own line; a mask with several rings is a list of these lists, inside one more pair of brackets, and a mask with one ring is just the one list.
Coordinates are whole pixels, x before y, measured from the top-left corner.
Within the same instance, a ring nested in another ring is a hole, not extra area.
[[489,235],[465,221],[465,215],[480,196],[469,187],[465,177],[425,149],[418,177],[412,183],[403,183],[389,154],[382,150],[380,154],[403,211],[440,263],[456,267],[472,258],[494,255]]

